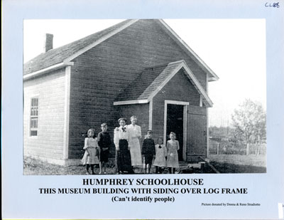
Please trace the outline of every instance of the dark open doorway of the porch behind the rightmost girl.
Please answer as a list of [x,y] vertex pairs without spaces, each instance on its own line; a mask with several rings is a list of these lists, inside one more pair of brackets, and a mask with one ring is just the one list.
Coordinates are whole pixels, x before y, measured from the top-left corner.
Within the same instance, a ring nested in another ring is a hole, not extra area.
[[178,159],[182,160],[182,147],[183,147],[183,105],[167,105],[167,141],[170,140],[170,132],[175,132],[180,144],[178,150]]

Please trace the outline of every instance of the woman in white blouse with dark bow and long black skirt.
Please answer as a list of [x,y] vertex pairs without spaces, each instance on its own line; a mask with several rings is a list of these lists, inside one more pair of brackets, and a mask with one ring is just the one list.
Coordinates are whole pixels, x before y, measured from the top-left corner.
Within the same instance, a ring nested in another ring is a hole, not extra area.
[[129,131],[126,128],[126,118],[119,118],[119,127],[114,129],[114,145],[116,147],[116,165],[119,174],[133,173],[129,147]]

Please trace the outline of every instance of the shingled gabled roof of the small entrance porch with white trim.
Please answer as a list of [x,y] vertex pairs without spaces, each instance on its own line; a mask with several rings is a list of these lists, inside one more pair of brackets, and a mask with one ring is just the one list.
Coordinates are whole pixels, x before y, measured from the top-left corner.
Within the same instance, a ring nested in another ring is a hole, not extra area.
[[204,104],[207,107],[212,107],[212,100],[210,100],[206,91],[202,88],[202,85],[200,85],[195,75],[193,75],[192,71],[183,60],[146,68],[138,75],[138,78],[136,78],[136,84],[129,85],[129,87],[119,95],[114,105],[150,102],[181,69],[196,88],[197,92],[202,96]]

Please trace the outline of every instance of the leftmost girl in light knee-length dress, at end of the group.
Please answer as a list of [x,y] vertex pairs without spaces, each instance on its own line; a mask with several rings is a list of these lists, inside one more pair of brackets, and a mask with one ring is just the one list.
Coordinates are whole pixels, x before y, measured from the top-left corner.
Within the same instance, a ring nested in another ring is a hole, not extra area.
[[[94,164],[99,164],[97,145],[97,137],[94,133],[94,129],[91,128],[87,132],[87,136],[84,139],[84,157],[82,158],[82,164],[86,164],[87,174],[94,174]],[[89,172],[91,167],[91,172]]]

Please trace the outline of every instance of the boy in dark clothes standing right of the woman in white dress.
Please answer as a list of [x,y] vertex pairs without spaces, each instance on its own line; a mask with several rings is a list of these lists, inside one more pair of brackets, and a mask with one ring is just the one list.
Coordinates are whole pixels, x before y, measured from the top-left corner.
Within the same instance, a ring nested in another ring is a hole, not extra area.
[[142,145],[142,155],[145,161],[145,173],[150,173],[152,166],[152,160],[155,156],[155,142],[152,139],[153,132],[151,130],[147,131],[146,139],[143,140]]

